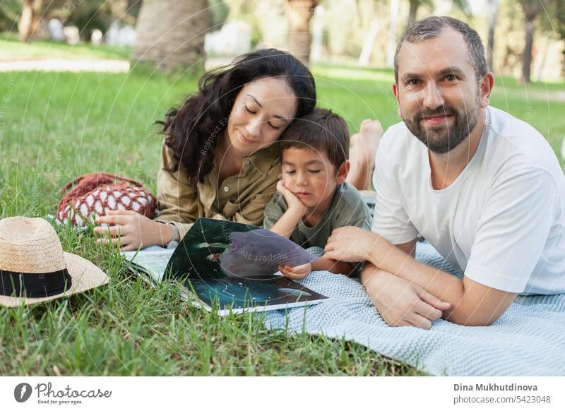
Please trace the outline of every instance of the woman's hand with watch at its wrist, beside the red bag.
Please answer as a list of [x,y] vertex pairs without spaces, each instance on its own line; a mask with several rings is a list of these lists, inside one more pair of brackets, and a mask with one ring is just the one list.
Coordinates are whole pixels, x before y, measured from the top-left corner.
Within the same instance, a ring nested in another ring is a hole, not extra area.
[[96,223],[110,225],[94,228],[96,234],[103,236],[96,242],[99,244],[111,243],[113,246],[119,244],[121,251],[131,251],[153,245],[162,246],[169,243],[173,236],[172,227],[169,225],[153,221],[135,211],[108,211],[107,215],[97,217]]

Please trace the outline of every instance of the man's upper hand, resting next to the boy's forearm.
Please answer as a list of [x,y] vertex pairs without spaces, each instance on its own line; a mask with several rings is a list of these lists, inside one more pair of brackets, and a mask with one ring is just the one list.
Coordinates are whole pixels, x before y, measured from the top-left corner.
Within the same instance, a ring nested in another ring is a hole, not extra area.
[[386,239],[359,227],[340,227],[333,230],[324,248],[324,258],[357,263],[368,261],[371,254],[386,256],[393,247]]

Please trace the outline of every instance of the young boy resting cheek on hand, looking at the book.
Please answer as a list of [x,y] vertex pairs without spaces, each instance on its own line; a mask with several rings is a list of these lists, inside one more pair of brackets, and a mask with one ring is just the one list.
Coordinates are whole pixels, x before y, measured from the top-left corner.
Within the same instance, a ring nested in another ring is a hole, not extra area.
[[[345,121],[327,109],[314,109],[297,119],[280,138],[283,179],[265,208],[263,227],[309,248],[323,248],[338,227],[371,230],[369,208],[359,191],[347,184],[350,169],[349,130]],[[280,266],[292,280],[311,270],[350,275],[358,263],[320,258],[304,266]]]

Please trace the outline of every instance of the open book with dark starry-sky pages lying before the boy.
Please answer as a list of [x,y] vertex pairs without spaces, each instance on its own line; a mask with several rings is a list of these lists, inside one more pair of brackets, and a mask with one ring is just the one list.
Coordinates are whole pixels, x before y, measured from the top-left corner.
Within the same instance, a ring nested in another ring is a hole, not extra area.
[[177,280],[184,298],[218,314],[317,304],[328,297],[278,273],[316,260],[301,246],[254,225],[199,218],[176,249],[124,251],[130,268],[154,282]]

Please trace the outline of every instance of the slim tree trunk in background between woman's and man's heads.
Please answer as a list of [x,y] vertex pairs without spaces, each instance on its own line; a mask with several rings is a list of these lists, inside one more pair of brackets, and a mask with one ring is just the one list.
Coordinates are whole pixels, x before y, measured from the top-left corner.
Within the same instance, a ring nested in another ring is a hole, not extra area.
[[285,9],[288,20],[287,47],[290,54],[302,63],[310,61],[310,19],[319,0],[287,0]]

